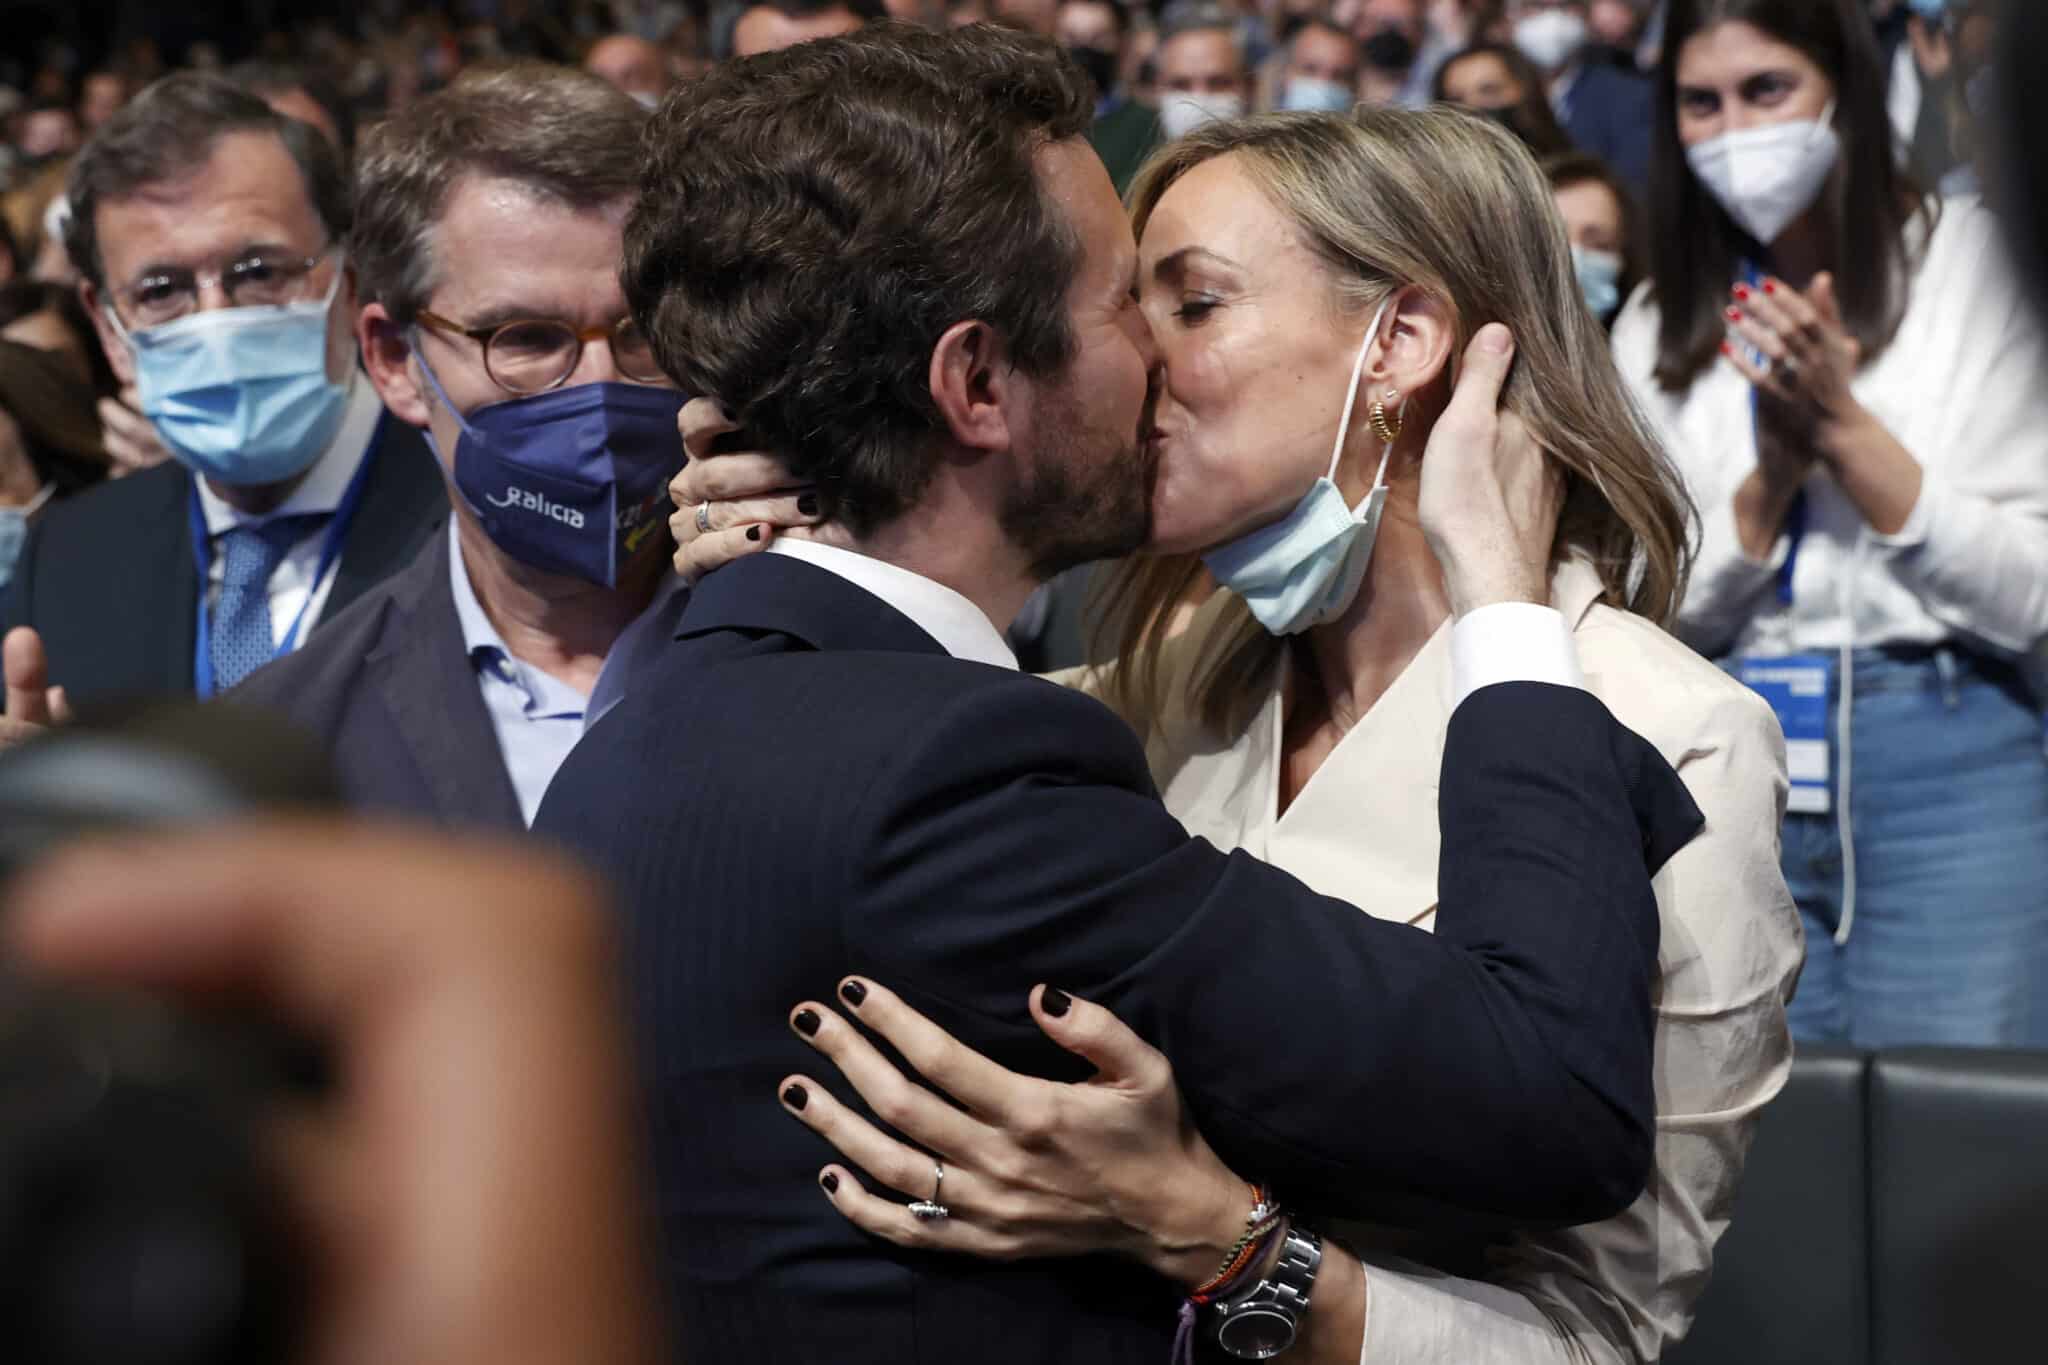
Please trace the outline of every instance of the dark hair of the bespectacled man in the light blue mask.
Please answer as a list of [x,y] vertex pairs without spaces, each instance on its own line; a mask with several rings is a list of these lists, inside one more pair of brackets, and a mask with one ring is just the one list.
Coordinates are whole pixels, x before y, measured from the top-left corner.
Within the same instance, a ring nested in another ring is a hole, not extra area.
[[63,250],[72,258],[72,268],[94,287],[106,289],[98,235],[100,203],[129,199],[190,176],[229,133],[270,133],[285,143],[328,239],[336,244],[348,239],[348,172],[334,143],[313,125],[274,113],[219,76],[180,72],[123,104],[72,164],[66,186],[72,217],[63,229]]

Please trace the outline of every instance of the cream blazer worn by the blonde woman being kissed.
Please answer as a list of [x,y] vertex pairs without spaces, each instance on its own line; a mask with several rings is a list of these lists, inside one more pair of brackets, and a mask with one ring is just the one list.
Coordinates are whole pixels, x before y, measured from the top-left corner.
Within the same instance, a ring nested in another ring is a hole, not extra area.
[[[1493,1252],[1485,1279],[1368,1254],[1366,1365],[1655,1361],[1692,1322],[1757,1113],[1792,1064],[1784,1007],[1802,937],[1778,868],[1778,720],[1747,688],[1599,596],[1583,561],[1552,581],[1585,684],[1665,755],[1706,814],[1700,837],[1655,878],[1655,1171],[1622,1216],[1524,1236]],[[1204,641],[1243,612],[1229,593],[1200,610],[1169,645],[1167,696],[1188,694]],[[1100,690],[1092,677],[1069,681]],[[1380,919],[1432,927],[1450,624],[1280,812],[1284,688],[1282,677],[1249,729],[1227,741],[1180,706],[1126,716],[1147,735],[1167,808],[1221,849],[1255,853]]]

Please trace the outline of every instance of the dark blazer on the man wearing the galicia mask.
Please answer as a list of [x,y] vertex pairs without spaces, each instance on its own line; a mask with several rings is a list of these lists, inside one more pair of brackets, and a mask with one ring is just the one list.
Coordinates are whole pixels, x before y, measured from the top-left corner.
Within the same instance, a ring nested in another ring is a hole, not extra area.
[[350,806],[436,825],[524,831],[449,585],[444,528],[397,575],[231,702],[264,706],[328,747]]

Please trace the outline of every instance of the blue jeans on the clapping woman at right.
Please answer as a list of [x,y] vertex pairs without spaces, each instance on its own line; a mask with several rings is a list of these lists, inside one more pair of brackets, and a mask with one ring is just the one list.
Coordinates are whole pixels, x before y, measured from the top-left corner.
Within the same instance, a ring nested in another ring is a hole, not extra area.
[[[1806,921],[1792,1036],[1862,1048],[2048,1042],[2040,710],[2015,669],[1956,649],[1853,659],[1855,915],[1837,948],[1835,814],[1788,814],[1784,872]],[[1839,784],[1835,722],[1831,696]]]

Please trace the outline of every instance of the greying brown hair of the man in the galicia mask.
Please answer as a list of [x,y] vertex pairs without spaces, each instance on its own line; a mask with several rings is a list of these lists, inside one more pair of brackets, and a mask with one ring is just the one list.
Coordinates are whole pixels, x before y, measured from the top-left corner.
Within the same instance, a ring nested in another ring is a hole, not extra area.
[[432,297],[436,229],[465,176],[516,180],[569,209],[639,190],[647,111],[575,68],[473,68],[369,131],[356,164],[356,297],[410,325]]

